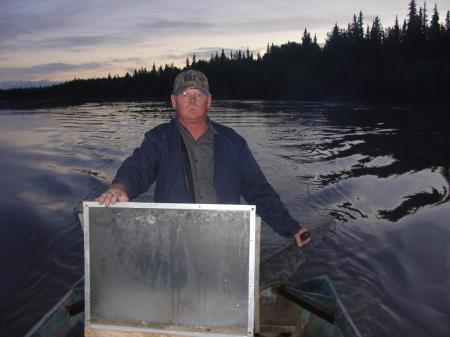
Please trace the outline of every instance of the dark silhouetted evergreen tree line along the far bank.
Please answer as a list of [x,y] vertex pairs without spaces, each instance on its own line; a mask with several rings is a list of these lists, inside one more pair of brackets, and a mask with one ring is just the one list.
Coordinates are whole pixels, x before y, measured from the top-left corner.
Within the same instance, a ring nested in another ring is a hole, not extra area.
[[[443,23],[441,23],[443,21]],[[179,68],[141,68],[125,76],[74,79],[42,88],[0,91],[2,100],[167,99],[183,69],[205,72],[216,99],[450,102],[450,12],[409,2],[408,16],[383,28],[377,16],[334,25],[323,46],[304,30],[298,42],[268,44],[264,55],[224,50],[209,60],[194,54]]]

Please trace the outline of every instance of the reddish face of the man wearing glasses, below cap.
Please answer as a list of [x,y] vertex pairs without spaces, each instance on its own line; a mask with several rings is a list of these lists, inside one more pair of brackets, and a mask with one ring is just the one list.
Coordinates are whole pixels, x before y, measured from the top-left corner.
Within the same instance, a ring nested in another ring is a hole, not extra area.
[[188,88],[180,94],[170,96],[170,99],[181,123],[186,125],[206,120],[206,113],[211,106],[210,95],[195,88]]

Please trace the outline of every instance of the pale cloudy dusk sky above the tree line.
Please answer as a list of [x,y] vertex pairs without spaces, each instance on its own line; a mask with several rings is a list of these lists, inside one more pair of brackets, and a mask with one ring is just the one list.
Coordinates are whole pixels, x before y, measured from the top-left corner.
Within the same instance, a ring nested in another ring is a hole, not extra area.
[[[127,71],[209,59],[222,49],[264,53],[300,42],[305,28],[324,43],[335,23],[361,10],[383,27],[402,23],[409,0],[0,0],[0,86],[21,81],[123,76]],[[423,5],[418,1],[418,5]],[[443,22],[449,0],[434,5]]]

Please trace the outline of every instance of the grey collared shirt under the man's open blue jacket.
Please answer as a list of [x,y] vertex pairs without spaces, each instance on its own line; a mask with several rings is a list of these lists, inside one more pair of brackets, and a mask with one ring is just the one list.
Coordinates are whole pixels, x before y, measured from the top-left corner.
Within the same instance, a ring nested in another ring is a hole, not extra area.
[[181,137],[191,164],[195,201],[199,204],[216,204],[214,187],[214,127],[208,119],[208,130],[197,140],[177,120]]

